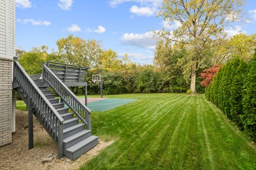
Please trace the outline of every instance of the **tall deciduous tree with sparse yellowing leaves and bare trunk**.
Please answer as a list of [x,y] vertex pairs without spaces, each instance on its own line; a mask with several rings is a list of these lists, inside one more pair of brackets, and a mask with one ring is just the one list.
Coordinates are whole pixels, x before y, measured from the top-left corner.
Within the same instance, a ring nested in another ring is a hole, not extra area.
[[225,27],[240,18],[242,0],[164,0],[159,16],[180,27],[174,31],[158,31],[157,35],[186,47],[191,72],[191,93],[195,93],[196,70],[211,59],[210,49],[221,44]]

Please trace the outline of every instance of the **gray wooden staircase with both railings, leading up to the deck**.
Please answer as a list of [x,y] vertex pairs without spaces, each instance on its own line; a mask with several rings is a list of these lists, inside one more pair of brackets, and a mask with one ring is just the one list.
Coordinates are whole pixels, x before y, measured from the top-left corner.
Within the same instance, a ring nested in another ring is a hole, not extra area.
[[74,160],[98,144],[98,137],[91,134],[90,109],[46,65],[43,81],[34,82],[15,60],[13,88],[28,106],[29,149],[33,148],[32,114],[57,143],[59,158],[65,155]]

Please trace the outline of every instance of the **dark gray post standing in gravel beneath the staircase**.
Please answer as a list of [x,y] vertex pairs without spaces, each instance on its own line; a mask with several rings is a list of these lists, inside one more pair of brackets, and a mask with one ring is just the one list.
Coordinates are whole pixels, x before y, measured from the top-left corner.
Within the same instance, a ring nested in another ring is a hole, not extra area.
[[27,107],[28,107],[28,149],[32,149],[34,148],[32,98],[28,98]]

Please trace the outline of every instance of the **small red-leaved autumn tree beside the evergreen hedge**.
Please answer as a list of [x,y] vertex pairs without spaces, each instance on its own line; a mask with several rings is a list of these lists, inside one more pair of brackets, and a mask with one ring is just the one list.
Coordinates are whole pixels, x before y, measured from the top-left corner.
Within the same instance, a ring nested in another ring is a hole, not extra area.
[[203,79],[203,81],[201,82],[201,84],[204,87],[209,87],[209,85],[211,84],[214,75],[216,75],[219,71],[219,67],[221,65],[213,65],[210,69],[204,69],[203,73],[200,73],[200,77],[201,79]]

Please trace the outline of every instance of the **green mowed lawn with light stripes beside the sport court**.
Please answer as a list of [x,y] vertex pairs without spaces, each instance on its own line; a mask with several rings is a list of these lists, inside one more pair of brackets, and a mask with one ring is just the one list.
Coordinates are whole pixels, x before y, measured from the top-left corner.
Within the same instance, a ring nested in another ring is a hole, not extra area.
[[204,95],[105,97],[138,100],[92,112],[92,133],[115,142],[81,169],[256,169],[252,140]]

